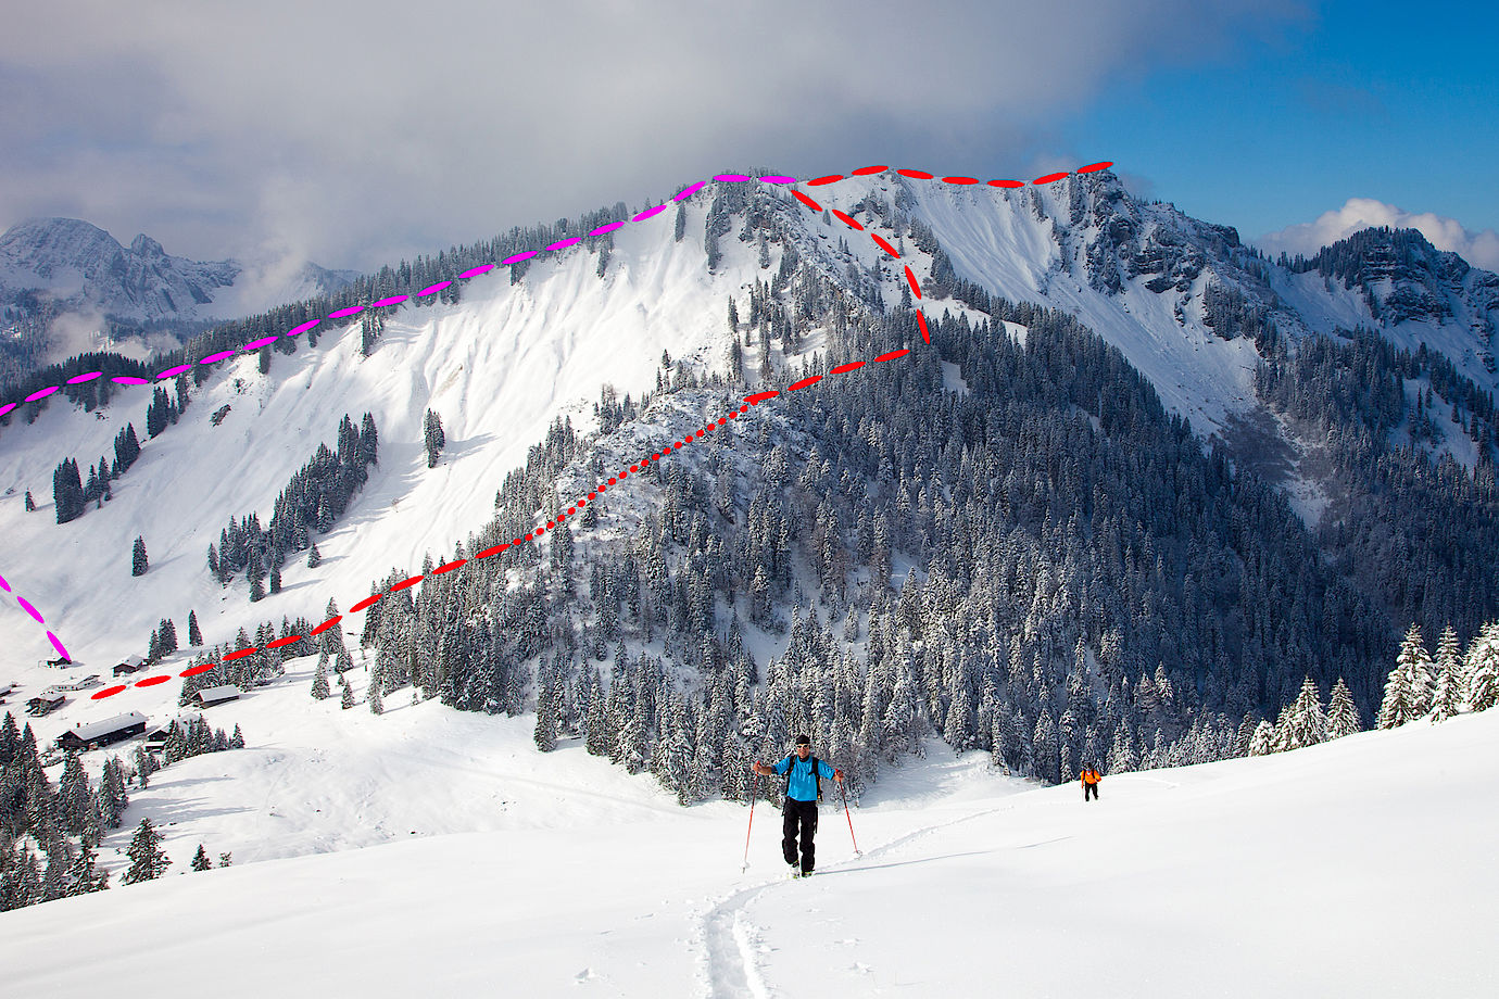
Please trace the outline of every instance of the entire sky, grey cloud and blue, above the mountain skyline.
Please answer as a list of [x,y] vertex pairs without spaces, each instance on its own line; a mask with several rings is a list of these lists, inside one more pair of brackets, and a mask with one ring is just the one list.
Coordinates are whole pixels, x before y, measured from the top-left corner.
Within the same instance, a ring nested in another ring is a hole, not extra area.
[[1499,268],[1499,13],[1480,7],[12,7],[0,228],[70,216],[195,259],[369,270],[726,169],[1027,178],[1108,159],[1274,252],[1418,225]]

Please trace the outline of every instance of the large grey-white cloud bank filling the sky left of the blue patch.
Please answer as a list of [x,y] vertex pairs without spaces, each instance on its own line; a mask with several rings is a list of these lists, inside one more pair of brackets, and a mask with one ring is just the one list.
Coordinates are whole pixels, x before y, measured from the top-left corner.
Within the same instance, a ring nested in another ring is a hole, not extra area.
[[1304,4],[10,6],[0,228],[67,214],[186,256],[370,267],[735,166],[1024,175],[1066,153],[1057,117]]

